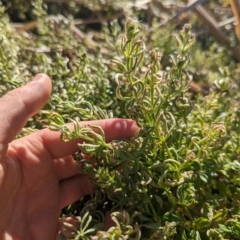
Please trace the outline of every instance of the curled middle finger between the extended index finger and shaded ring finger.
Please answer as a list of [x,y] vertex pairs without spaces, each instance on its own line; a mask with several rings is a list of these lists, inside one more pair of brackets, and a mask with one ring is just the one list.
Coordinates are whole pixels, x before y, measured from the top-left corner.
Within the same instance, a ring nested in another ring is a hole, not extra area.
[[81,169],[81,165],[77,164],[71,155],[64,158],[55,159],[54,164],[59,180],[78,175],[79,170]]

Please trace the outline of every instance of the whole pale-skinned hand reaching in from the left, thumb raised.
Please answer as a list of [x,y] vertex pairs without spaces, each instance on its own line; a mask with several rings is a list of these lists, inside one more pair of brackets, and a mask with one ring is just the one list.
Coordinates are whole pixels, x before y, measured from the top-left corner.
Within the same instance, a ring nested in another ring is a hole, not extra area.
[[[48,101],[51,80],[38,74],[34,81],[0,99],[0,239],[55,240],[61,229],[63,207],[93,187],[79,174],[72,154],[77,141],[64,143],[48,129],[15,139],[30,117]],[[81,122],[98,125],[107,141],[128,139],[139,130],[130,119]]]

